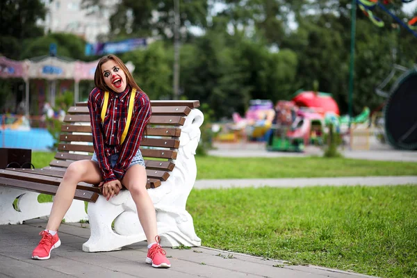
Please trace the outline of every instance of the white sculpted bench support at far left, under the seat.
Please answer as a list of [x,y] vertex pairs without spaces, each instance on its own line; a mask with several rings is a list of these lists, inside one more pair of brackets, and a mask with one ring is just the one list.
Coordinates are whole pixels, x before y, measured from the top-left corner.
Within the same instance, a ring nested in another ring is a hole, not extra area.
[[[38,196],[39,193],[0,186],[0,224],[22,224],[25,220],[48,216],[52,202],[40,203]],[[74,199],[64,220],[67,223],[88,220],[84,202]]]

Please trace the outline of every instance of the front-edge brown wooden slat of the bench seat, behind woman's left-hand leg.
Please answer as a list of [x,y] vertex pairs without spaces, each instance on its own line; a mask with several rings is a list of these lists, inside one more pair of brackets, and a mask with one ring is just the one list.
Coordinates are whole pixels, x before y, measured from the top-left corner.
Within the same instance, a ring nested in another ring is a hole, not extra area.
[[[35,183],[32,181],[21,181],[19,179],[9,179],[5,177],[0,177],[0,184],[3,186],[8,186],[11,188],[19,188],[23,190],[34,191],[37,193],[44,193],[49,195],[55,195],[58,186],[51,186],[49,184]],[[99,194],[92,191],[85,191],[76,189],[74,199],[79,199],[81,201],[87,202],[96,202]]]

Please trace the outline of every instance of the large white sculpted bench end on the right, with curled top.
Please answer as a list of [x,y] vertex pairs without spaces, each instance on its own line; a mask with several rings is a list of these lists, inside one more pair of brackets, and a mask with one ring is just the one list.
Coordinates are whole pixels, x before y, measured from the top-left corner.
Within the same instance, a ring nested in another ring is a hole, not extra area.
[[[186,211],[186,202],[197,177],[194,155],[201,135],[199,126],[203,121],[201,111],[193,109],[190,112],[181,126],[174,170],[161,186],[148,189],[164,247],[201,245],[201,239],[195,234],[193,218]],[[83,244],[85,252],[120,250],[125,245],[146,240],[136,205],[128,190],[123,190],[109,201],[100,195],[97,202],[88,204],[88,218],[91,234]]]

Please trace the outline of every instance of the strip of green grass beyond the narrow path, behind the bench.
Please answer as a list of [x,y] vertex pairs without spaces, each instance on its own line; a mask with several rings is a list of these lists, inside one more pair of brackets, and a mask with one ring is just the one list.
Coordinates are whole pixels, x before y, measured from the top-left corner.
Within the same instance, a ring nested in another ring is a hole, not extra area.
[[[44,167],[54,153],[34,152],[35,167]],[[350,158],[224,158],[196,156],[197,179],[293,177],[404,176],[417,173],[417,163],[365,161]]]

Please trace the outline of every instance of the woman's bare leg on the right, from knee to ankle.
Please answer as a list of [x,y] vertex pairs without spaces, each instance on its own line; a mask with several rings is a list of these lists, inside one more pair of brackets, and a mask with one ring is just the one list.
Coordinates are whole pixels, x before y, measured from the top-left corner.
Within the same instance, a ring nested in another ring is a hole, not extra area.
[[155,242],[158,235],[156,227],[156,213],[154,203],[147,193],[146,189],[147,175],[145,167],[141,165],[133,165],[124,174],[122,184],[130,191],[133,201],[138,210],[140,224],[148,244]]

